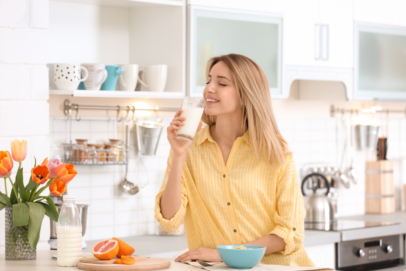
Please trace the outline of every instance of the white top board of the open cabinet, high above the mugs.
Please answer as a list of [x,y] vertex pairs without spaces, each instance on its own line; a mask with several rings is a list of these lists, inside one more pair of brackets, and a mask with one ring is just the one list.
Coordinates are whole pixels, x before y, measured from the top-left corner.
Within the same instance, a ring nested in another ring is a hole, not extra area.
[[159,5],[183,6],[182,0],[52,0],[55,2],[67,2],[75,4],[90,4],[106,7],[156,7]]

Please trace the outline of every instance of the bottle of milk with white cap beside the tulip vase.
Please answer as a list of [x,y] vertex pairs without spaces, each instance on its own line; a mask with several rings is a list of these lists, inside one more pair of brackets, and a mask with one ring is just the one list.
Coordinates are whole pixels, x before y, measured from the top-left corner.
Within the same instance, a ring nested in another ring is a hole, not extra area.
[[78,266],[82,258],[82,223],[73,195],[63,195],[56,227],[56,241],[58,265]]

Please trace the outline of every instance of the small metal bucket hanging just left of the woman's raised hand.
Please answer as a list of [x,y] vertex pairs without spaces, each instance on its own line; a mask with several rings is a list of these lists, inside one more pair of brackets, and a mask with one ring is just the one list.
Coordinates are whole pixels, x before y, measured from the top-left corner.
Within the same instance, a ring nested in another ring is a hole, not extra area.
[[136,123],[138,151],[142,155],[155,155],[162,128],[164,125],[159,122],[139,121]]

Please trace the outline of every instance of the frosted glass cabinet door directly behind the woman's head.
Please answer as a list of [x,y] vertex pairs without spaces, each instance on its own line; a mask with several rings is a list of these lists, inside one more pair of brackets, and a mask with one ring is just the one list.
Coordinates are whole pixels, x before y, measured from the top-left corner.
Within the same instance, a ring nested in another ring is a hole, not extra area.
[[281,96],[281,18],[195,6],[189,6],[188,15],[190,96],[202,96],[209,58],[230,53],[257,62],[266,74],[272,97]]

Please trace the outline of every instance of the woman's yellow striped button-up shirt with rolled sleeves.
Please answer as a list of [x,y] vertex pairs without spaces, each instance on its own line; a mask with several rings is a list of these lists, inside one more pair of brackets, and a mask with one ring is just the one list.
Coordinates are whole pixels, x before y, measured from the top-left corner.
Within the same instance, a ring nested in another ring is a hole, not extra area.
[[209,126],[194,138],[183,166],[181,206],[171,220],[160,212],[160,200],[171,169],[173,151],[160,192],[155,218],[171,232],[184,220],[189,249],[239,245],[276,234],[285,250],[263,256],[263,264],[314,266],[303,247],[303,197],[292,155],[285,164],[270,164],[255,155],[248,135],[235,140],[227,164],[210,136]]

